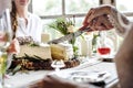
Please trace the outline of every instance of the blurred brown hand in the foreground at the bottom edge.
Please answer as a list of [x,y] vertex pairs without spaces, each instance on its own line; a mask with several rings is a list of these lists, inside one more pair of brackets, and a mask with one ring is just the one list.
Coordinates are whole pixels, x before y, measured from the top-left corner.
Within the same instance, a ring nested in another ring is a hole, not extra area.
[[31,85],[30,88],[89,88],[89,86],[68,81],[57,76],[45,76],[42,80]]

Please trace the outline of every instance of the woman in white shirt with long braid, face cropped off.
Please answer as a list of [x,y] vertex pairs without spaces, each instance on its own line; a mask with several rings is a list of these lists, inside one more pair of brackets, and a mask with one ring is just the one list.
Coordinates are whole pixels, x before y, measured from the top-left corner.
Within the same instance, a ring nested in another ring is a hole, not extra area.
[[[41,42],[42,23],[41,19],[29,12],[30,0],[12,0],[11,22],[13,38],[33,40]],[[29,37],[29,38],[28,38]]]

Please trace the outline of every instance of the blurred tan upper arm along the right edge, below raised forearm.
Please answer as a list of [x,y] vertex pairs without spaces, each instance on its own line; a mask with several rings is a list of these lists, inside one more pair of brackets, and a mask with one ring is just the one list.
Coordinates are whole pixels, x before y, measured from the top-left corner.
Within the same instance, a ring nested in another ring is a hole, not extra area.
[[114,59],[121,88],[133,88],[133,26],[125,36]]

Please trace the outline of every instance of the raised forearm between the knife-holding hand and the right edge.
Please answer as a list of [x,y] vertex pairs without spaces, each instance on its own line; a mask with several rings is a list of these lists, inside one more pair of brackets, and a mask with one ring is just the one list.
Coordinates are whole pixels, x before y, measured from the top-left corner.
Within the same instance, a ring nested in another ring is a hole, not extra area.
[[116,28],[119,34],[126,34],[127,30],[131,29],[132,23],[127,20],[127,18],[120,13],[114,7],[109,7],[109,19],[112,24]]

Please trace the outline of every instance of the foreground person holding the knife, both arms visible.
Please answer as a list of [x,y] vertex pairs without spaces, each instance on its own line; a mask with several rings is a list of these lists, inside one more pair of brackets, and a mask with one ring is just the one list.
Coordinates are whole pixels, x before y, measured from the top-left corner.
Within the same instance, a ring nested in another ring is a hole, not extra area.
[[[124,36],[116,56],[115,64],[120,79],[121,88],[133,88],[133,24],[125,15],[120,13],[112,6],[101,6],[93,8],[86,14],[83,25],[91,28],[92,31],[103,31],[116,29],[116,32]],[[112,26],[113,25],[113,26]],[[45,76],[42,80],[37,81],[31,88],[88,88],[90,86],[82,86],[64,81],[54,76]]]

